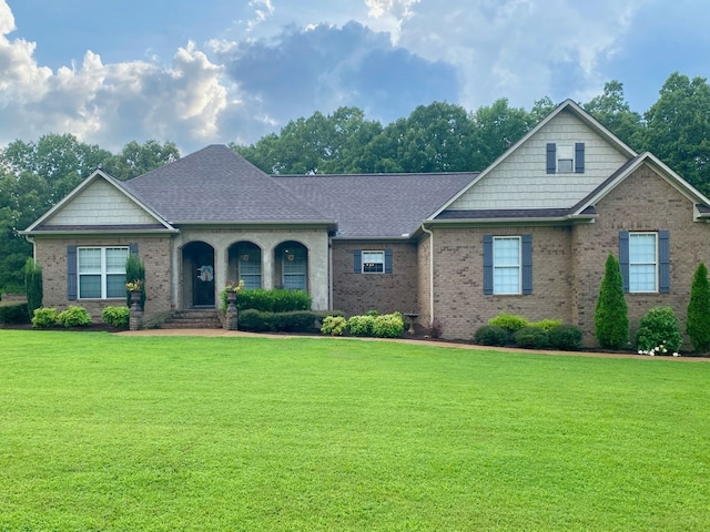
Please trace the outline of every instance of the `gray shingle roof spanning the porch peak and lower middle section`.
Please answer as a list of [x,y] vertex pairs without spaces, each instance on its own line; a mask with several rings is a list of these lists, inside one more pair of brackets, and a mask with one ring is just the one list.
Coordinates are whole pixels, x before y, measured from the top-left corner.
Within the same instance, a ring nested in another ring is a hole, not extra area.
[[270,176],[211,145],[122,184],[170,223],[331,222],[338,236],[409,234],[477,173]]

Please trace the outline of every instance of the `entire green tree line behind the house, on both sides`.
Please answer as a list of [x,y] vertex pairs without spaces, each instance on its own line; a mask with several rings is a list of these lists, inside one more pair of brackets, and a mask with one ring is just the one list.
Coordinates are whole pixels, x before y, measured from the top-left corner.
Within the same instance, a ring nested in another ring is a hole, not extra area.
[[[637,152],[649,151],[710,194],[710,85],[671,74],[645,113],[632,111],[619,81],[580,105]],[[315,112],[254,144],[230,147],[268,174],[368,174],[483,171],[552,109],[549,98],[526,111],[506,99],[476,111],[446,102],[416,108],[387,125],[358,108]],[[31,245],[27,228],[95,168],[129,180],[180,157],[172,142],[133,141],[112,154],[71,134],[0,149],[0,293],[22,287]]]

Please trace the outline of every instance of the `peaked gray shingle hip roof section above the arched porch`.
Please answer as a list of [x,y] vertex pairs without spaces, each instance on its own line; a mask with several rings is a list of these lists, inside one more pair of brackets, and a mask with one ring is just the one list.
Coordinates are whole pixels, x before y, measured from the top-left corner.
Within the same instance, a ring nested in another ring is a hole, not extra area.
[[334,222],[225,145],[204,147],[123,186],[172,224]]

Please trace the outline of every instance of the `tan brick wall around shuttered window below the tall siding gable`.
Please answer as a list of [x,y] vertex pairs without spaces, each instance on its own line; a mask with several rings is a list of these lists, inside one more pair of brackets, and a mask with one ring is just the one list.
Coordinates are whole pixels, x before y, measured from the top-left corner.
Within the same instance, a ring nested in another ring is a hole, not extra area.
[[[532,235],[532,294],[484,295],[483,237]],[[530,320],[571,318],[569,227],[437,228],[434,232],[434,309],[446,338],[469,339],[499,313]]]

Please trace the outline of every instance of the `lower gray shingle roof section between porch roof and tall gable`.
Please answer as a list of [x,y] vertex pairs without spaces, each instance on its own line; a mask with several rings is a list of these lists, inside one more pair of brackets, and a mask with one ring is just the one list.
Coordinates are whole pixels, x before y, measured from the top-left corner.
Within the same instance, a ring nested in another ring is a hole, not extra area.
[[400,238],[477,176],[477,172],[460,172],[274,177],[337,219],[337,237]]

